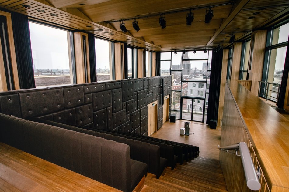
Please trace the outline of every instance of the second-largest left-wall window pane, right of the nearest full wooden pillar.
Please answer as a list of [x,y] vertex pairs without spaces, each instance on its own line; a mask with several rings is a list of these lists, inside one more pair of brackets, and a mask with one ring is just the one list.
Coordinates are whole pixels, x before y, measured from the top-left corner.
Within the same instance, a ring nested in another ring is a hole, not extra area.
[[97,82],[112,80],[111,69],[111,42],[95,38],[96,79]]

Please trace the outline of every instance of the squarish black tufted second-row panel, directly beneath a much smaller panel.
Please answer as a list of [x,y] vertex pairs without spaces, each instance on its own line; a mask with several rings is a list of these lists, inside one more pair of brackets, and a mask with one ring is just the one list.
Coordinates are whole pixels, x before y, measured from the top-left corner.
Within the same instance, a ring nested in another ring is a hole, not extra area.
[[76,125],[84,126],[93,122],[92,104],[75,107]]

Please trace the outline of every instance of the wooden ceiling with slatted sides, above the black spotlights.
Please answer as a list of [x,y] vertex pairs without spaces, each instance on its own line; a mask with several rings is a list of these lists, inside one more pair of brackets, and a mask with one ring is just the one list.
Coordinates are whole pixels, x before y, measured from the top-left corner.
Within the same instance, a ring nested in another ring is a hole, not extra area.
[[[225,3],[228,5],[221,5]],[[214,17],[209,24],[204,23],[206,6],[214,6]],[[285,0],[0,0],[0,7],[70,29],[93,31],[97,36],[151,51],[229,46],[230,34],[234,33],[237,41],[252,30],[289,15],[289,2]],[[190,8],[194,20],[188,26],[186,14]],[[39,9],[45,12],[38,12]],[[161,13],[168,13],[164,15],[165,29],[159,25]],[[140,30],[136,32],[132,18],[138,17]],[[120,19],[131,19],[124,21],[128,30],[125,34],[119,22],[111,22]]]

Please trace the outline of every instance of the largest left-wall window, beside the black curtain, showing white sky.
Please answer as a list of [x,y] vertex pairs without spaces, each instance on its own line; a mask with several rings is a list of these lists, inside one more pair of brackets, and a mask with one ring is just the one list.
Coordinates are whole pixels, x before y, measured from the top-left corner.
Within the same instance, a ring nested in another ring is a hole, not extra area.
[[36,87],[72,84],[71,32],[29,22]]

